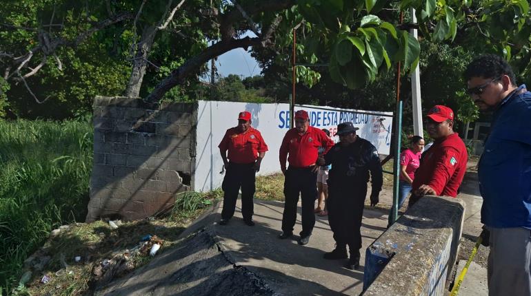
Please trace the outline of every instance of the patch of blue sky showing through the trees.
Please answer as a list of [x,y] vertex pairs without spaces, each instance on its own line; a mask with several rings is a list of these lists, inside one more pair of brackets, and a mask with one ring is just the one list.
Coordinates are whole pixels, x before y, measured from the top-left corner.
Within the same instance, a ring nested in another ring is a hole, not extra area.
[[[246,32],[240,38],[244,36],[256,37],[251,31]],[[250,50],[250,47],[248,49]],[[219,56],[216,61],[216,67],[221,77],[226,77],[229,74],[237,74],[243,77],[255,76],[260,75],[262,71],[257,61],[252,58],[249,52],[243,50],[243,48],[237,48]],[[208,69],[210,69],[210,63],[208,63]],[[203,77],[203,79],[209,80],[210,76]]]

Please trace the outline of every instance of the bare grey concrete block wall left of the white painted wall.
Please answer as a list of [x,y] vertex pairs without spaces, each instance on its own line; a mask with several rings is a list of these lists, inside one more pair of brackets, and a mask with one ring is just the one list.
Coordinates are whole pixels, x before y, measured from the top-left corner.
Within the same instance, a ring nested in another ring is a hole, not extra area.
[[137,220],[193,188],[197,104],[94,98],[94,160],[86,220]]

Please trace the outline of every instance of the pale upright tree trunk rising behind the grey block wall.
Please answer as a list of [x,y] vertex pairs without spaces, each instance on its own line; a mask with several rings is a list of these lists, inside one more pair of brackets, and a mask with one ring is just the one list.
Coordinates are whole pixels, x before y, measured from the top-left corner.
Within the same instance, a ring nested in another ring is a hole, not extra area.
[[140,96],[140,88],[142,87],[142,80],[146,74],[146,67],[148,67],[148,55],[153,45],[154,36],[154,26],[150,26],[142,32],[142,39],[137,44],[137,52],[134,54],[132,60],[131,75],[129,76],[125,96],[132,98],[138,98]]

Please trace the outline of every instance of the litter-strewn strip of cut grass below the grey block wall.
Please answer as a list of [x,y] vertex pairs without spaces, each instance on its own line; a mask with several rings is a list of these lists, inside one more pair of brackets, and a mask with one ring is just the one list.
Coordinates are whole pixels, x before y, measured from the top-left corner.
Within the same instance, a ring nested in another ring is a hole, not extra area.
[[[99,286],[150,261],[151,243],[165,249],[179,242],[179,235],[203,211],[221,198],[221,191],[186,192],[176,196],[175,207],[162,218],[119,223],[76,223],[60,231],[39,250],[38,257],[50,256],[41,273],[34,275],[17,295],[91,295]],[[148,235],[150,240],[146,240]],[[143,242],[146,240],[147,242]],[[146,246],[144,246],[146,245]],[[79,262],[75,257],[79,256]],[[43,283],[43,277],[48,282]]]

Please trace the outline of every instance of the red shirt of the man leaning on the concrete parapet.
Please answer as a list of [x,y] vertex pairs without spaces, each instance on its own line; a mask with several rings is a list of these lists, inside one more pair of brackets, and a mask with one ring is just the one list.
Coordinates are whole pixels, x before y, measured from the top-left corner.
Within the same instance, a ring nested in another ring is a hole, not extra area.
[[421,165],[415,172],[412,191],[426,184],[437,195],[456,197],[457,189],[465,176],[467,161],[465,143],[457,133],[435,140],[432,147],[422,155]]

